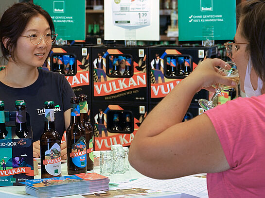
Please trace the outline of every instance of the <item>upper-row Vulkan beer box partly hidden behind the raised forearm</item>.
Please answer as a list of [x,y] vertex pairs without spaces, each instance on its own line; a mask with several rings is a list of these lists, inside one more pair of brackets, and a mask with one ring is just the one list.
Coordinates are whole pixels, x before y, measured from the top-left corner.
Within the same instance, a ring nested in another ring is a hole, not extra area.
[[[200,61],[217,57],[217,47],[150,47],[148,51],[150,72],[149,102],[157,104],[182,79],[190,74]],[[192,103],[198,99],[208,99],[208,91],[198,92]]]

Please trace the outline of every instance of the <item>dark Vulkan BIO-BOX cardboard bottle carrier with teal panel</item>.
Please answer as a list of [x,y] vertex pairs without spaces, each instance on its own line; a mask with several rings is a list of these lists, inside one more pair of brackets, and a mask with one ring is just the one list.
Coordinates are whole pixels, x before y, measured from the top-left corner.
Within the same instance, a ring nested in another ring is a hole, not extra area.
[[32,130],[27,116],[27,138],[18,138],[16,111],[5,112],[7,135],[0,140],[0,186],[23,185],[20,182],[34,179]]

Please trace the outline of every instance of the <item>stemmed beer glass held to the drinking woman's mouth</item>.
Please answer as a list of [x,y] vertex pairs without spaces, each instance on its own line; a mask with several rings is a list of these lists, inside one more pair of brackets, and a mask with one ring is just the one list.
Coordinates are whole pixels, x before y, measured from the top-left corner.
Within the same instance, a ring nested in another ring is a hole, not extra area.
[[[236,69],[235,63],[233,62],[226,62],[226,66],[224,68],[220,67],[218,73],[228,78],[231,78],[236,84],[238,84],[239,82],[239,74]],[[226,86],[224,84],[217,84],[217,86],[215,87],[215,93],[210,99],[210,101],[207,99],[199,99],[200,107],[203,108],[205,111],[212,109],[213,107],[215,107],[215,105],[213,104],[213,100],[221,93],[221,90],[228,91],[231,88],[233,87]]]

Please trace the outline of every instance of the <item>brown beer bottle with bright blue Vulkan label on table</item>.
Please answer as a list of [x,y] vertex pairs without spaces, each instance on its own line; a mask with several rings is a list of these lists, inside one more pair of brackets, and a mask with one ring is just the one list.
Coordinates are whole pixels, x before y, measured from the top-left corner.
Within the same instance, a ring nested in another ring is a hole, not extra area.
[[86,132],[80,121],[79,98],[71,97],[71,123],[66,130],[67,172],[69,175],[87,172]]

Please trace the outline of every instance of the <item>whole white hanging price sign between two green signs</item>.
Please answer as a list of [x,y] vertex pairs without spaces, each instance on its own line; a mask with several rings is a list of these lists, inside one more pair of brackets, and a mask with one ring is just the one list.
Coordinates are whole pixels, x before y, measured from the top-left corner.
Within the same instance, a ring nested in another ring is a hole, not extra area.
[[104,0],[105,40],[159,40],[159,0]]

